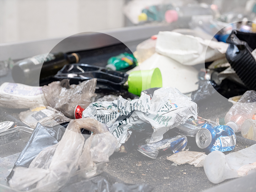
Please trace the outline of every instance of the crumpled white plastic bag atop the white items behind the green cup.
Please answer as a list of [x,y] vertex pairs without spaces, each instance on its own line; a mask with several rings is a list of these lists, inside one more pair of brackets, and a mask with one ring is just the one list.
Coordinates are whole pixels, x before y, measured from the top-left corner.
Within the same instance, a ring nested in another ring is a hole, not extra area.
[[160,31],[155,50],[183,65],[196,65],[225,58],[227,49],[228,43],[176,32]]

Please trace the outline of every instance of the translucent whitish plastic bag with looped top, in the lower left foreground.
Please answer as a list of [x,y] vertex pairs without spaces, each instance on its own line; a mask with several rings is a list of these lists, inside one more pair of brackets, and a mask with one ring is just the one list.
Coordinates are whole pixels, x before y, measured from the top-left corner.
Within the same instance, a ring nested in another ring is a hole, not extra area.
[[[85,141],[81,128],[94,134]],[[102,148],[102,146],[104,146]],[[98,162],[107,162],[116,149],[117,142],[107,127],[92,118],[71,120],[62,140],[41,151],[28,168],[17,167],[9,181],[16,190],[58,191],[78,168],[94,167]],[[91,172],[91,177],[96,175]]]

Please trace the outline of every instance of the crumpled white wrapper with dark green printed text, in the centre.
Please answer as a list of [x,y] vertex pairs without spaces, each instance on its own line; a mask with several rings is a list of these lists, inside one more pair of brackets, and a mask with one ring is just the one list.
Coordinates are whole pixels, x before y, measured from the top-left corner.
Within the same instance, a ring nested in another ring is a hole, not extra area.
[[151,100],[149,95],[142,95],[132,101],[119,96],[112,102],[94,102],[82,114],[82,117],[93,117],[105,123],[119,146],[129,138],[133,124],[150,123],[154,132],[146,142],[153,143],[191,116],[197,119],[197,104],[172,87],[156,90]]

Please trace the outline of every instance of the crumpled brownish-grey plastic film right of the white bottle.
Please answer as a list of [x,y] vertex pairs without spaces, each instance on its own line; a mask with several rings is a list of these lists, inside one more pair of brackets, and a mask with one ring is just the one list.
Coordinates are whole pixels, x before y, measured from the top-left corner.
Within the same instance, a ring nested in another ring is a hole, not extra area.
[[78,85],[70,85],[69,79],[64,79],[44,85],[42,91],[50,107],[62,112],[66,117],[74,119],[76,105],[86,108],[91,102],[94,102],[96,83],[97,79],[90,79]]

